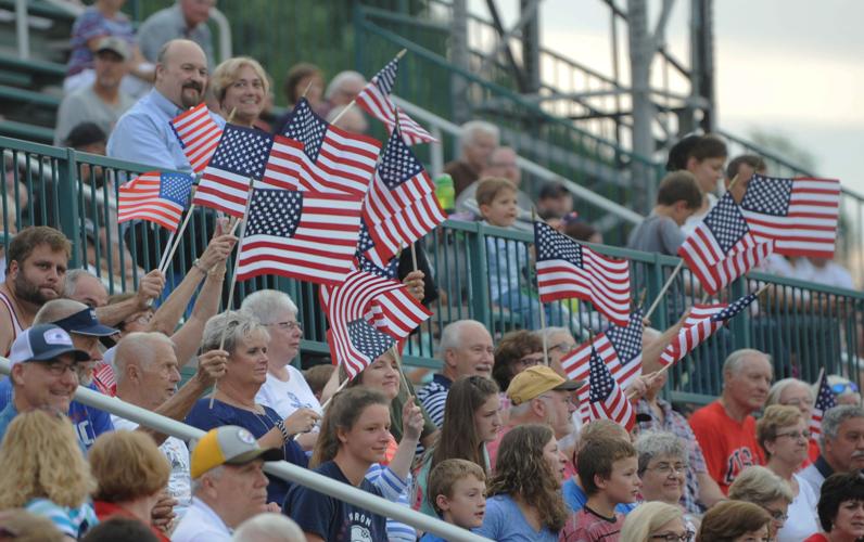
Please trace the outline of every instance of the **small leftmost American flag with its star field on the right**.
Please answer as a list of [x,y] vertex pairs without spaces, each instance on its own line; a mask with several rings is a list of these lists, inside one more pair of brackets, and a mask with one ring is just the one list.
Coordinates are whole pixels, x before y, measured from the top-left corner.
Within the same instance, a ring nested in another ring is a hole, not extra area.
[[118,189],[117,222],[141,219],[177,231],[194,180],[186,173],[141,173]]

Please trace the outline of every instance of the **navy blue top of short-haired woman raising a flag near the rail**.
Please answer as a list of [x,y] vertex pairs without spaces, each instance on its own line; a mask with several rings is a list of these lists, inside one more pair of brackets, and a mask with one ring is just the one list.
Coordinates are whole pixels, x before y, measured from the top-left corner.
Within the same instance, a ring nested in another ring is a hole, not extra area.
[[[205,431],[224,425],[238,425],[245,428],[256,439],[262,438],[267,431],[272,429],[276,426],[276,422],[280,420],[282,418],[279,417],[279,414],[269,406],[264,406],[264,414],[256,414],[216,400],[213,401],[213,409],[211,409],[209,398],[199,399],[189,415],[186,416],[187,424]],[[293,440],[285,442],[284,447],[282,447],[282,452],[289,463],[302,467],[309,465],[303,449]],[[267,501],[281,505],[291,485],[275,476],[267,475],[267,478],[270,480],[267,485]]]

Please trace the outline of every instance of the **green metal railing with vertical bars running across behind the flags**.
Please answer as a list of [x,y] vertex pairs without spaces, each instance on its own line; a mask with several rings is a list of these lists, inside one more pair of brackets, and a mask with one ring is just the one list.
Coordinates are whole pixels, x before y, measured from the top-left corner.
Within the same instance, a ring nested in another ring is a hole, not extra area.
[[[87,262],[112,293],[131,291],[141,272],[156,267],[167,232],[138,231],[120,241],[125,228],[116,224],[112,208],[118,182],[152,168],[9,138],[0,138],[0,172],[10,181],[0,184],[4,250],[14,231],[30,224],[53,225],[73,243],[71,266]],[[179,254],[198,255],[207,242],[207,214],[196,214]],[[479,320],[496,337],[536,325],[539,306],[531,275],[532,241],[530,233],[479,222],[447,221],[427,235],[424,246],[442,298],[431,307],[433,318],[408,341],[406,362],[439,366],[435,352],[440,332],[455,320]],[[631,261],[634,298],[637,302],[644,298],[645,305],[656,298],[678,262],[674,257],[612,246],[594,248]],[[187,258],[177,256],[168,274],[179,278],[187,269]],[[722,292],[720,298],[736,299],[765,283],[772,287],[758,305],[673,367],[673,398],[703,402],[719,393],[723,360],[744,347],[771,353],[777,378],[796,375],[812,382],[825,367],[829,373],[843,373],[857,380],[857,360],[864,353],[864,294],[753,272],[748,280]],[[682,273],[652,315],[655,327],[671,325],[695,302],[688,294],[695,289],[693,286],[693,276]],[[262,287],[288,292],[297,302],[305,327],[301,345],[304,354],[327,354],[326,322],[318,308],[317,288],[285,279],[259,278],[238,285],[236,302],[239,305],[247,292]],[[508,289],[520,293],[519,301],[508,296],[496,298]],[[580,340],[603,326],[589,304],[574,301],[549,307],[547,324],[564,325]]]

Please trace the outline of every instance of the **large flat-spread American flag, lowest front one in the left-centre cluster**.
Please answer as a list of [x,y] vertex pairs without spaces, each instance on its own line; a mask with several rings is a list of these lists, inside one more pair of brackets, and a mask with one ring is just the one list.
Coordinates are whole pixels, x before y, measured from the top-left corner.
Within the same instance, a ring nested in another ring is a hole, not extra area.
[[340,284],[351,272],[360,228],[357,196],[254,189],[237,256],[237,278],[278,274]]

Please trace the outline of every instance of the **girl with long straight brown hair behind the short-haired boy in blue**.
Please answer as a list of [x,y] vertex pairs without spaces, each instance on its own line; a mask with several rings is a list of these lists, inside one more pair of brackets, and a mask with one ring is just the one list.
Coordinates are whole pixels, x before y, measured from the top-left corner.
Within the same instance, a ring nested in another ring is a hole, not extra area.
[[465,376],[453,384],[444,410],[458,414],[444,416],[437,442],[423,456],[417,475],[415,508],[435,515],[428,500],[427,480],[429,473],[445,460],[467,460],[488,473],[486,444],[495,441],[501,426],[498,391],[498,386],[483,376]]

